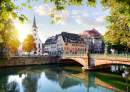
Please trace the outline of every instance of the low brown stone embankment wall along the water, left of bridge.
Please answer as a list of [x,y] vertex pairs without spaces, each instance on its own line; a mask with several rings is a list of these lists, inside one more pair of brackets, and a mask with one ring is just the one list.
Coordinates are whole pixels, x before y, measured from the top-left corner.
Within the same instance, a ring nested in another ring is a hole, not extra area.
[[7,58],[0,58],[0,67],[57,63],[57,59],[56,56],[12,57],[9,61]]

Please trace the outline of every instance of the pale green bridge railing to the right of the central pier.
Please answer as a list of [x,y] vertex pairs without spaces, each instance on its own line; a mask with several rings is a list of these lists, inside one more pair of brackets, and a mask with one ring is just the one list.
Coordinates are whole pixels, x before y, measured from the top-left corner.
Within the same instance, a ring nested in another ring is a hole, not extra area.
[[121,59],[130,60],[130,54],[90,54],[91,58],[105,58],[105,59]]

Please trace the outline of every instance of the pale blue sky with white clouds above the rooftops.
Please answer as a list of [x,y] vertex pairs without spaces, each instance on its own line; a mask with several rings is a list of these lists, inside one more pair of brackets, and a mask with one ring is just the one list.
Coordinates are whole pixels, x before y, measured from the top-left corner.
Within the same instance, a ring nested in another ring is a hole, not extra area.
[[[25,1],[18,0],[14,4],[21,6],[21,3]],[[33,7],[32,9],[23,8],[20,11],[20,13],[28,17],[29,21],[21,24],[18,19],[14,20],[14,25],[20,34],[19,40],[22,42],[27,37],[27,34],[31,33],[34,15],[38,27],[38,35],[43,43],[45,43],[48,37],[60,34],[62,31],[79,34],[94,28],[103,35],[107,31],[106,26],[108,24],[105,16],[109,12],[103,11],[99,1],[97,0],[96,8],[87,5],[80,7],[69,6],[66,10],[55,13],[55,16],[59,16],[61,20],[53,25],[50,24],[52,18],[49,16],[52,7],[54,7],[53,3],[44,4],[43,0],[38,2],[32,1],[29,3]]]

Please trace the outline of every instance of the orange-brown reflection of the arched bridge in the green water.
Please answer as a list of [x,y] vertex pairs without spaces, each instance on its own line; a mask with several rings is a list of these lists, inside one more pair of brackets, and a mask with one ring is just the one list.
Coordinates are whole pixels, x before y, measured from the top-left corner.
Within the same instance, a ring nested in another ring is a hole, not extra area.
[[112,87],[111,85],[101,81],[100,79],[91,76],[89,73],[70,74],[64,71],[63,75],[69,77],[70,79],[74,79],[84,83],[84,85],[87,87],[87,92],[89,92],[89,87],[94,86],[94,84],[104,87],[106,88],[106,90],[111,89],[113,91],[126,92],[124,90],[120,90],[119,88]]

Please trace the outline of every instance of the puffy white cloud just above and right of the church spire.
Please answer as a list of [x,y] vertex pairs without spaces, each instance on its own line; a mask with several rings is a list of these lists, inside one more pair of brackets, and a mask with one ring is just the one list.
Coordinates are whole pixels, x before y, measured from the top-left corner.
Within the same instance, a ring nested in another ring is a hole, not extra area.
[[34,11],[37,12],[39,15],[49,15],[51,13],[52,5],[38,5],[34,7]]

